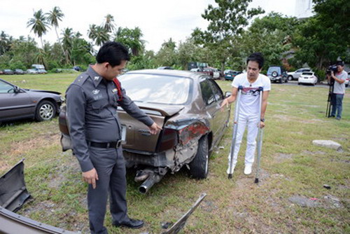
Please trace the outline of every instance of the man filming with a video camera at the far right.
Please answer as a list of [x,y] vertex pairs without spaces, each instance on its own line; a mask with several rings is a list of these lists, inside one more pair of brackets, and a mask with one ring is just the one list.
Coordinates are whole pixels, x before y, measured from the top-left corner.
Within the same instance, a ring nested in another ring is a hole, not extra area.
[[335,117],[335,112],[337,111],[337,120],[342,118],[342,102],[345,93],[345,80],[347,74],[344,71],[344,62],[337,62],[337,73],[334,74],[333,71],[327,74],[328,82],[332,83],[331,78],[334,82],[334,89],[332,93],[332,113],[330,117]]

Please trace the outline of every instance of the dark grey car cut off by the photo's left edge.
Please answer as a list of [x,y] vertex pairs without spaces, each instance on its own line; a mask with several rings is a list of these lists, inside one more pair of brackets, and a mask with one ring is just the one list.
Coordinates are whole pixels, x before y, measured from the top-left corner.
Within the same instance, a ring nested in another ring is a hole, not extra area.
[[48,121],[63,102],[59,92],[19,88],[1,78],[0,99],[0,122],[20,118]]

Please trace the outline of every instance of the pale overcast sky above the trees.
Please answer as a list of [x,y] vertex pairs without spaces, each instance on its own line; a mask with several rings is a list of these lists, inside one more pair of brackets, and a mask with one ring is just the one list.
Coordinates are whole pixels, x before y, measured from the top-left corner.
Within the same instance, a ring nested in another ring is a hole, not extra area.
[[[301,1],[301,0],[298,0]],[[54,6],[59,6],[64,13],[59,22],[59,32],[71,27],[73,32],[80,32],[87,38],[89,25],[101,25],[104,17],[111,14],[117,27],[133,29],[139,27],[144,34],[146,49],[157,52],[163,42],[185,41],[195,27],[206,29],[207,21],[201,14],[214,0],[1,0],[0,31],[18,39],[19,36],[32,36],[27,28],[29,18],[40,9],[48,13]],[[253,0],[251,7],[262,7],[266,13],[271,11],[283,15],[295,16],[295,0]],[[36,37],[36,36],[35,36]],[[53,43],[57,40],[55,30],[43,36],[43,40]],[[39,41],[37,39],[37,41]],[[38,42],[39,46],[40,43]]]

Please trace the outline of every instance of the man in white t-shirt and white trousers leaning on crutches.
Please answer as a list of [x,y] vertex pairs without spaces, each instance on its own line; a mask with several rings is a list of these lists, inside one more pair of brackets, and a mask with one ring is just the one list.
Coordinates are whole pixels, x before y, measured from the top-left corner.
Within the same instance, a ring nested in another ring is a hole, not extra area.
[[[263,65],[264,57],[262,57],[261,53],[249,55],[246,60],[246,73],[235,76],[235,79],[232,81],[232,95],[224,99],[221,104],[221,108],[223,109],[225,105],[228,106],[228,104],[235,102],[237,99],[231,147],[233,155],[231,156],[230,151],[228,156],[227,173],[229,174],[229,178],[230,176],[232,177],[232,173],[237,164],[239,147],[241,146],[241,139],[246,126],[248,127],[248,132],[246,137],[247,146],[244,161],[244,174],[251,174],[256,148],[256,137],[259,128],[265,127],[267,97],[269,96],[269,90],[271,90],[269,78],[260,74]],[[260,95],[262,95],[261,99]]]

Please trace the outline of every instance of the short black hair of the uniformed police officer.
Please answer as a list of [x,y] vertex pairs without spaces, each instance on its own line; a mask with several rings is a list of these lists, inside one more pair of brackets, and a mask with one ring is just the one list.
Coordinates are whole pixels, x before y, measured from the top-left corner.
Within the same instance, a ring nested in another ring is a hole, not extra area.
[[129,52],[123,44],[115,41],[104,43],[96,55],[97,63],[109,62],[112,67],[120,65],[123,60],[130,61]]

